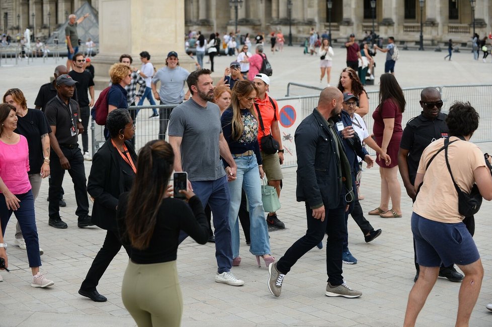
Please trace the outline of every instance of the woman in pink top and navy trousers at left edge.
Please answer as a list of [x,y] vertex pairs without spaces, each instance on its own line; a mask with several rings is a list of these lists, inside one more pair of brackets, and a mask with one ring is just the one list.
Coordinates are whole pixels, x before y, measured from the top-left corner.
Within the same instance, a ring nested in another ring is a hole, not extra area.
[[[0,105],[0,223],[2,235],[14,212],[26,240],[27,257],[33,279],[31,286],[48,287],[53,281],[39,272],[41,257],[34,213],[34,197],[27,172],[29,149],[24,136],[14,133],[17,128],[16,108],[7,103]],[[5,243],[4,243],[5,244]],[[8,267],[8,262],[6,261]]]

